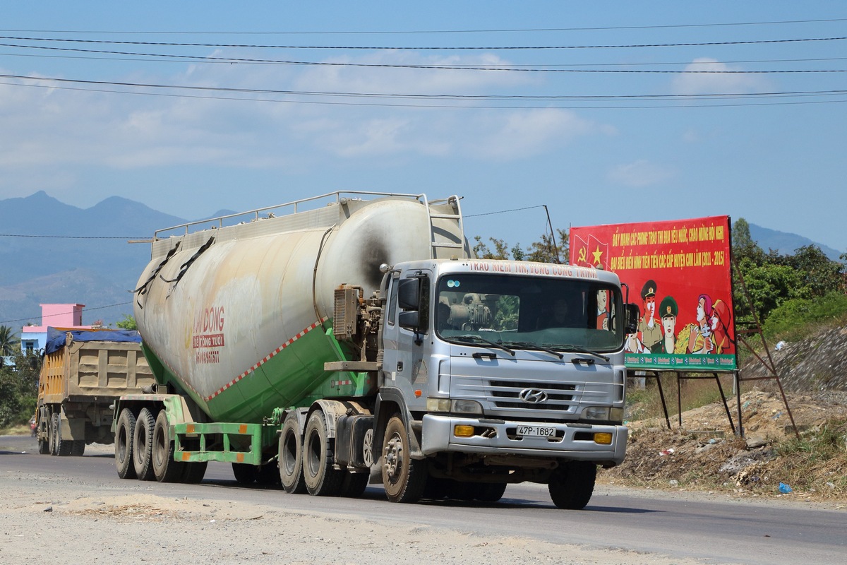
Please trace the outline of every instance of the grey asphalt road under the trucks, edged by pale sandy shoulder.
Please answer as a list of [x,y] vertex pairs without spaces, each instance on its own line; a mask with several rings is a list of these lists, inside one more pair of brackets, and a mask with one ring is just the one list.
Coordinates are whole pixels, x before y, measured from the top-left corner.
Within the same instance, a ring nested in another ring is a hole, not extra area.
[[102,447],[85,457],[38,455],[30,437],[0,436],[0,474],[64,474],[102,494],[132,489],[160,496],[239,501],[300,512],[335,512],[364,519],[426,524],[480,535],[623,548],[695,557],[719,563],[847,562],[847,512],[803,501],[730,499],[598,486],[582,511],[562,511],[541,485],[509,485],[496,504],[385,501],[379,485],[360,499],[287,495],[283,490],[237,485],[230,466],[211,463],[200,485],[121,480],[113,455]]

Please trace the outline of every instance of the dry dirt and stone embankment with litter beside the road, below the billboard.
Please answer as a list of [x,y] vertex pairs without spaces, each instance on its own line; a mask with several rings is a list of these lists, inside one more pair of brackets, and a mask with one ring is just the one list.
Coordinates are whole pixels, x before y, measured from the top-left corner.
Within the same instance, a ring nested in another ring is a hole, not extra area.
[[[684,412],[682,427],[676,414],[671,416],[672,429],[663,418],[630,422],[626,461],[601,473],[600,481],[735,496],[788,496],[847,508],[845,352],[847,328],[774,348],[772,359],[788,406],[776,381],[742,382],[744,438],[733,433],[720,402]],[[742,379],[766,375],[767,369],[755,360],[741,373]],[[729,415],[738,426],[735,399],[728,400]]]

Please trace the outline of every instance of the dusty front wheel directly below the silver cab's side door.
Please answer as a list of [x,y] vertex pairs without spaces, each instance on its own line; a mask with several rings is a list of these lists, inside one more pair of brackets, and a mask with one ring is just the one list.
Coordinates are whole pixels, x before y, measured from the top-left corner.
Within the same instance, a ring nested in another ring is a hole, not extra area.
[[382,440],[382,483],[392,502],[417,502],[426,487],[426,461],[412,459],[409,436],[399,415],[385,426]]

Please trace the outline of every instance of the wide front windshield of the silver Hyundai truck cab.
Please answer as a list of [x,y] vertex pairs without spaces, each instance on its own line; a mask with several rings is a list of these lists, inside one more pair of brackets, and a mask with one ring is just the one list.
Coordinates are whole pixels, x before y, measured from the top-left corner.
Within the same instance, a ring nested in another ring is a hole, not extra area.
[[462,273],[442,276],[436,292],[435,330],[446,341],[556,352],[623,346],[620,290],[597,280]]

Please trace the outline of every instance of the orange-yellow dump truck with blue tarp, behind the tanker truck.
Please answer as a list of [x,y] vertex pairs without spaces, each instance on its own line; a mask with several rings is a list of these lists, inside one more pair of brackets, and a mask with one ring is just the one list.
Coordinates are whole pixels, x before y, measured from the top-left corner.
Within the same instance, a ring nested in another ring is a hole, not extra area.
[[38,380],[38,451],[81,456],[113,442],[112,405],[155,384],[135,330],[47,328]]

